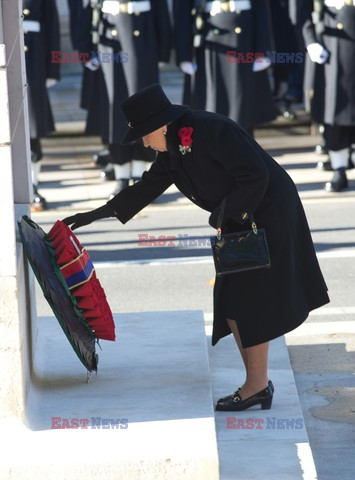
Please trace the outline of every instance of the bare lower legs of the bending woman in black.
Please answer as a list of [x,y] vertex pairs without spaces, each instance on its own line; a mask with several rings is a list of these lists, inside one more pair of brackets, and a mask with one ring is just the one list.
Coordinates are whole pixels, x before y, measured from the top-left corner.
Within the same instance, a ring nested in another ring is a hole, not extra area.
[[236,321],[228,318],[227,323],[238,345],[246,369],[246,382],[239,391],[244,400],[267,387],[269,342],[244,348]]

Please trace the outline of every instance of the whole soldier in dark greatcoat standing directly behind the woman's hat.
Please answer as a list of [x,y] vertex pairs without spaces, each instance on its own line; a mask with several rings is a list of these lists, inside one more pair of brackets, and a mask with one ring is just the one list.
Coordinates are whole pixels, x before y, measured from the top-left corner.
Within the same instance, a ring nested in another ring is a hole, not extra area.
[[[110,197],[137,181],[155,159],[142,142],[122,146],[118,139],[126,127],[120,103],[139,89],[159,81],[159,62],[168,62],[171,25],[166,0],[99,1],[87,7],[93,18],[91,44],[96,51],[89,66],[101,74],[91,91],[86,133],[108,143],[117,185]],[[81,32],[83,35],[83,31]],[[86,32],[86,41],[89,34]],[[95,41],[95,38],[97,39]]]

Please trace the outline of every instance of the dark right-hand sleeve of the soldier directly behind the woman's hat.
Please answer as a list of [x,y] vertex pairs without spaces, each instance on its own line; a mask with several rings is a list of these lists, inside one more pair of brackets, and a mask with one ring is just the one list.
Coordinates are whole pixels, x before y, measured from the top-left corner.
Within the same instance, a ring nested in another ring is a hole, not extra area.
[[168,63],[172,44],[172,28],[166,0],[152,2],[155,30],[158,40],[158,61]]

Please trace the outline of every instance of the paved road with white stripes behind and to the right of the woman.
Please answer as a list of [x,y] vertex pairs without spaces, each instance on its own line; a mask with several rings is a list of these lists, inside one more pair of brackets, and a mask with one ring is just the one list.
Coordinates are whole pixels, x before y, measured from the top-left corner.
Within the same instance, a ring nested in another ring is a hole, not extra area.
[[[179,101],[181,77],[167,73],[163,85],[171,99]],[[53,91],[52,98],[55,94]],[[68,108],[68,102],[63,100],[64,89],[57,98],[62,101],[63,113]],[[73,94],[73,108],[76,98]],[[82,120],[78,116],[68,119],[63,114],[58,130],[78,133]],[[325,193],[322,186],[330,174],[314,168],[319,160],[313,153],[317,138],[308,130],[275,125],[258,130],[257,139],[298,186],[332,300],[286,337],[318,478],[352,480],[355,170],[349,173],[350,187],[346,192]],[[33,217],[47,230],[57,218],[104,203],[114,183],[101,182],[98,170],[90,163],[91,155],[100,146],[97,138],[54,137],[44,145],[41,191],[50,210]],[[206,323],[210,323],[213,265],[209,247],[178,240],[174,247],[138,245],[142,233],[177,238],[186,234],[208,236],[212,232],[207,217],[206,212],[189,204],[172,188],[126,226],[104,220],[83,228],[80,239],[96,263],[113,311],[203,309]],[[41,295],[38,299],[38,313],[50,314]]]

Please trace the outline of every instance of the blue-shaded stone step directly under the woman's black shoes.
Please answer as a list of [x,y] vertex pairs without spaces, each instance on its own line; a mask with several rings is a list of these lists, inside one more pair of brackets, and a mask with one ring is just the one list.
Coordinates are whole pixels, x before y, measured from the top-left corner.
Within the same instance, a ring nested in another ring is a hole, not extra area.
[[[216,403],[244,383],[245,370],[231,335],[211,347],[210,326],[206,334]],[[317,478],[284,337],[270,343],[269,378],[275,387],[271,410],[215,412],[220,480]]]

